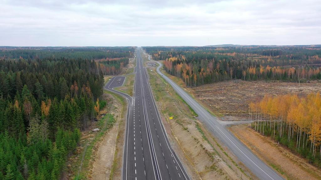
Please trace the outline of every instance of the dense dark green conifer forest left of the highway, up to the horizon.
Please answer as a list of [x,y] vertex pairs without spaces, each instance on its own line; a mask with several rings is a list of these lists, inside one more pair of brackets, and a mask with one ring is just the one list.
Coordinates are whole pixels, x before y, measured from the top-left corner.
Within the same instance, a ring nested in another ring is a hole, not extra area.
[[0,49],[0,179],[59,179],[134,48]]

